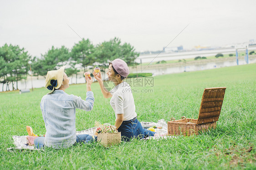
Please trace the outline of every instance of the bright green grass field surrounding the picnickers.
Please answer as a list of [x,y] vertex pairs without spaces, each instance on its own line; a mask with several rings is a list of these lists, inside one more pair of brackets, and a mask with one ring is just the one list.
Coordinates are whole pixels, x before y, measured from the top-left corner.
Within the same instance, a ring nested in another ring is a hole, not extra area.
[[[0,169],[256,169],[256,64],[156,76],[153,87],[136,87],[148,93],[133,93],[138,120],[197,119],[204,88],[222,86],[227,89],[217,128],[204,134],[31,152],[6,149],[14,147],[12,135],[27,135],[26,125],[36,134],[46,132],[40,101],[47,90],[1,93]],[[85,90],[85,84],[71,85],[66,92],[85,99]],[[77,130],[93,127],[95,120],[114,124],[110,99],[97,83],[92,91],[94,108],[77,110]]]

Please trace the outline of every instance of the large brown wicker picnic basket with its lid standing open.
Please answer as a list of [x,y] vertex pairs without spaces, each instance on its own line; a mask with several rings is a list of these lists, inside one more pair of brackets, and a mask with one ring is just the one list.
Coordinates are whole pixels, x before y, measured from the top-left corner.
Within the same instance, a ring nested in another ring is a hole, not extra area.
[[216,128],[220,110],[224,99],[226,87],[206,88],[203,93],[198,119],[180,120],[171,118],[168,121],[168,135],[198,135],[209,128]]

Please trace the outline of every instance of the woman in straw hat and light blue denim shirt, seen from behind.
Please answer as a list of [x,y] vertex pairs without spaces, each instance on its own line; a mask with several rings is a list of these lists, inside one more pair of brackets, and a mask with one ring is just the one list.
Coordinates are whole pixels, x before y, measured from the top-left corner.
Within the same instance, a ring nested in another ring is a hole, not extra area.
[[36,148],[43,146],[56,149],[67,148],[79,142],[89,142],[91,135],[76,135],[76,108],[90,111],[94,97],[91,90],[92,78],[86,76],[86,100],[76,95],[68,95],[69,78],[64,72],[65,66],[59,70],[48,71],[46,88],[50,90],[41,100],[41,110],[46,127],[46,135],[34,140]]

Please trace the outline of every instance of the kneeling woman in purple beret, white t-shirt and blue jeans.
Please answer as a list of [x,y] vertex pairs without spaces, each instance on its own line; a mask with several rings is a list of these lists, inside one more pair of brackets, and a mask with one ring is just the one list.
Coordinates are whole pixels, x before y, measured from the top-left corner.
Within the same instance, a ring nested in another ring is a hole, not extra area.
[[121,132],[122,140],[129,141],[135,137],[141,139],[154,136],[155,132],[143,129],[137,120],[131,87],[127,82],[123,81],[129,75],[129,68],[126,62],[121,59],[115,59],[109,63],[108,80],[116,85],[110,91],[103,85],[101,72],[95,73],[94,71],[92,74],[98,80],[103,96],[105,98],[112,97],[110,105],[115,111],[115,126]]

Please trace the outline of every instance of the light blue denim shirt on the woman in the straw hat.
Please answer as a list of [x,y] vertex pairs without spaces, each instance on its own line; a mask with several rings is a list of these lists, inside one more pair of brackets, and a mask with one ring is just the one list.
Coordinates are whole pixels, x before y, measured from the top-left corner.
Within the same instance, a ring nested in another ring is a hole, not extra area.
[[63,90],[43,96],[40,106],[46,126],[44,145],[57,149],[70,147],[76,142],[76,108],[86,111],[93,108],[93,92],[87,91],[86,96],[86,100],[82,100]]

